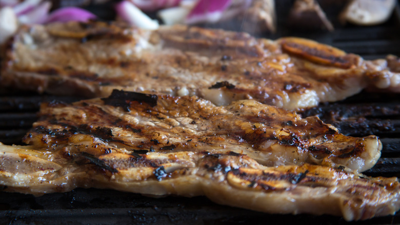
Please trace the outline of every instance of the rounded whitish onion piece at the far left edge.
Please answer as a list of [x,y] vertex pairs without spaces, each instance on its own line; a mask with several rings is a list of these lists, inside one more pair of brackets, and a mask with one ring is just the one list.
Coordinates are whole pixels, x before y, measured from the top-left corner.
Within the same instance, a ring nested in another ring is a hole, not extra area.
[[10,37],[17,29],[18,22],[11,7],[0,9],[0,44]]

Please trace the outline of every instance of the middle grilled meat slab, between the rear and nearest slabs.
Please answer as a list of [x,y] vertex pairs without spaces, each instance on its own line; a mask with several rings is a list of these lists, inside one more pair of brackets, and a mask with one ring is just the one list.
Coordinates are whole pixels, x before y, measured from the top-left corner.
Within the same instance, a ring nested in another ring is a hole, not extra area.
[[371,168],[382,148],[376,136],[347,137],[316,117],[302,119],[254,100],[215,106],[198,97],[114,90],[108,98],[43,106],[40,115],[24,142],[41,148],[89,151],[90,146],[76,145],[77,137],[85,137],[106,152],[108,147],[163,153],[230,149],[266,166],[308,162],[356,172]]

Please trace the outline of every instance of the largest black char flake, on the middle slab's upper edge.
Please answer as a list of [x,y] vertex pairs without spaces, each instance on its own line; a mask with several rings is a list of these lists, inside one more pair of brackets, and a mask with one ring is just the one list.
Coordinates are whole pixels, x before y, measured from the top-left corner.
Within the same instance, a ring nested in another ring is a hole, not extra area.
[[102,98],[105,104],[112,106],[121,106],[125,111],[130,111],[130,103],[137,101],[140,103],[147,103],[151,107],[157,105],[157,96],[145,93],[138,93],[132,91],[123,91],[114,89],[111,95],[107,98]]

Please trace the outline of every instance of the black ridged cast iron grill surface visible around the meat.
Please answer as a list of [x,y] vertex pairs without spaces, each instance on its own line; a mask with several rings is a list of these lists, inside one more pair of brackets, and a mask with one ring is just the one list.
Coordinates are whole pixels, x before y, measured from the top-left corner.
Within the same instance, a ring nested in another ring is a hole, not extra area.
[[[267,38],[307,37],[365,59],[400,55],[400,10],[379,26],[341,26],[337,8],[326,10],[335,26],[333,33],[302,32],[285,27],[289,1],[276,1],[278,29]],[[335,1],[326,1],[335,2]],[[68,3],[70,4],[70,3]],[[324,7],[324,5],[322,5]],[[104,7],[92,9],[103,18],[112,18]],[[1,74],[0,74],[1,76]],[[0,89],[0,142],[23,144],[22,137],[36,121],[41,102],[73,102],[76,97],[38,95]],[[362,92],[341,102],[321,104],[306,110],[303,117],[318,116],[340,132],[356,137],[377,135],[383,143],[382,157],[368,176],[400,177],[400,95]],[[218,205],[206,197],[146,197],[113,190],[76,189],[68,193],[40,197],[0,192],[0,224],[399,224],[400,214],[365,221],[346,222],[334,216],[270,215]]]

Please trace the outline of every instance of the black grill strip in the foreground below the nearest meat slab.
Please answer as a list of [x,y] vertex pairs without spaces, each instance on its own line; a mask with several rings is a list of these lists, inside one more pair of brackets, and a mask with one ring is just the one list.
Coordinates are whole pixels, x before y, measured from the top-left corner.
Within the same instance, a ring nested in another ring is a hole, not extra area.
[[[63,196],[60,201],[60,196]],[[334,216],[269,215],[212,203],[205,197],[147,198],[132,193],[97,189],[77,189],[64,194],[32,197],[17,193],[1,193],[4,211],[0,217],[6,224],[24,219],[26,224],[398,224],[400,215],[346,222]],[[13,210],[22,199],[25,208]],[[52,202],[51,207],[45,202]],[[170,202],[174,202],[170,204]]]

